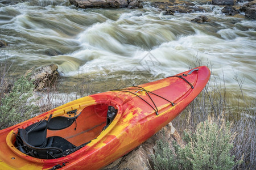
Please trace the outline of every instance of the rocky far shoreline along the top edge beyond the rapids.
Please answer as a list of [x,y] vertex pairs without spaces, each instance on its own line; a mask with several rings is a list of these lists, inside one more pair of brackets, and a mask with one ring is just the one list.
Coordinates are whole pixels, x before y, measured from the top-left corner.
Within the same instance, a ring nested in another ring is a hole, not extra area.
[[[247,1],[251,0],[238,0],[238,2]],[[143,8],[143,1],[141,0],[69,0],[69,2],[79,8]],[[163,15],[174,15],[175,12],[191,13],[204,11],[203,7],[182,0],[148,0],[147,2],[151,2],[152,6],[164,11]],[[247,2],[244,5],[238,2],[235,0],[205,0],[204,3],[223,6],[222,12],[226,15],[236,15],[245,12],[246,18],[256,19],[256,0]]]

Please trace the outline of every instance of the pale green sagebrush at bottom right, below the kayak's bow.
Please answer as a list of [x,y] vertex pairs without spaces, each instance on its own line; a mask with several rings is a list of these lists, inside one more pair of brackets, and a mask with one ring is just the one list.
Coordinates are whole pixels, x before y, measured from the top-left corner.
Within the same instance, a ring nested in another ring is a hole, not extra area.
[[174,142],[175,154],[168,143],[156,142],[152,156],[155,169],[232,169],[235,162],[230,151],[235,134],[231,133],[232,124],[219,120],[218,125],[208,118],[197,125],[194,133],[184,131],[187,145],[180,147]]

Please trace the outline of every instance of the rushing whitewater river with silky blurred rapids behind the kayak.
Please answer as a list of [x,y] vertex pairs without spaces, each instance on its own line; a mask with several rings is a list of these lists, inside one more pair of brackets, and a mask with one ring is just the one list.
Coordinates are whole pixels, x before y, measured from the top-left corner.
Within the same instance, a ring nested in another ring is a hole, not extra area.
[[[68,0],[0,0],[0,39],[16,73],[55,63],[67,84],[86,74],[97,91],[146,83],[198,65],[225,79],[229,98],[255,100],[256,21],[226,16],[209,1],[204,12],[166,16],[141,9],[81,9]],[[209,22],[191,22],[205,15]],[[223,84],[223,82],[222,82]]]

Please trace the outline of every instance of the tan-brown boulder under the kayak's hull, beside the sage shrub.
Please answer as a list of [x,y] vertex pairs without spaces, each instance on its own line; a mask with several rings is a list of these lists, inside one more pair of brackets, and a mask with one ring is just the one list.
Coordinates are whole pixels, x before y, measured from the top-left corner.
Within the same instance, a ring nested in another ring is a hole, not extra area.
[[129,154],[119,158],[114,163],[103,168],[108,169],[137,169],[137,170],[150,170],[153,169],[151,162],[151,155],[154,154],[154,146],[158,139],[164,139],[170,143],[171,149],[172,141],[177,141],[180,146],[184,146],[184,143],[177,133],[176,129],[172,126],[172,123],[166,125],[162,130],[153,135],[150,139],[144,142],[141,146],[138,146]]

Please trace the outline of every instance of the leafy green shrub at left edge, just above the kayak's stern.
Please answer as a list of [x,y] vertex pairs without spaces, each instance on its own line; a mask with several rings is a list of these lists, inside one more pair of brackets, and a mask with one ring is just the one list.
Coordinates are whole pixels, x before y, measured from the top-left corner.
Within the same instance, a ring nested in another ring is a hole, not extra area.
[[7,128],[25,121],[33,114],[39,112],[39,107],[32,98],[34,84],[28,76],[18,79],[9,94],[1,99],[0,103],[0,129]]

